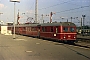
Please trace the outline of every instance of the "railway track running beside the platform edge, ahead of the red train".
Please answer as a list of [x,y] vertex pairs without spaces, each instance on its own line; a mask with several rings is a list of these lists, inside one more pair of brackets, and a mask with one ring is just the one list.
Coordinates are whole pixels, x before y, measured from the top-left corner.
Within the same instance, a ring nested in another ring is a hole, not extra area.
[[[47,39],[46,39],[47,40]],[[73,47],[79,47],[79,48],[84,48],[84,49],[90,49],[90,43],[78,40],[78,42],[75,42],[74,44],[72,43],[66,43],[62,41],[57,41],[57,40],[47,40],[55,43],[55,45],[68,45],[68,46],[73,46]]]

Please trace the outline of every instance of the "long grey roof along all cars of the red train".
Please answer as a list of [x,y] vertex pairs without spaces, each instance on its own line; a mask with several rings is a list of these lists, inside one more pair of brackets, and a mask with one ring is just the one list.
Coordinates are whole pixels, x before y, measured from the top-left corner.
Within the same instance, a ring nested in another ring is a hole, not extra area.
[[[58,22],[58,23],[43,23],[43,24],[21,24],[21,25],[15,25],[15,27],[28,27],[28,26],[76,26],[72,22]],[[11,26],[13,27],[13,25]]]

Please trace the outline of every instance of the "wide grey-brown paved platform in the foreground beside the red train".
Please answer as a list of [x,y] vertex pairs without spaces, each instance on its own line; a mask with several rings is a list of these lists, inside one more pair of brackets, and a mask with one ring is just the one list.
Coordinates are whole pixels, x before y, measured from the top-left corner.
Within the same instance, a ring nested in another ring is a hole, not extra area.
[[90,60],[89,52],[63,43],[0,34],[0,60]]

